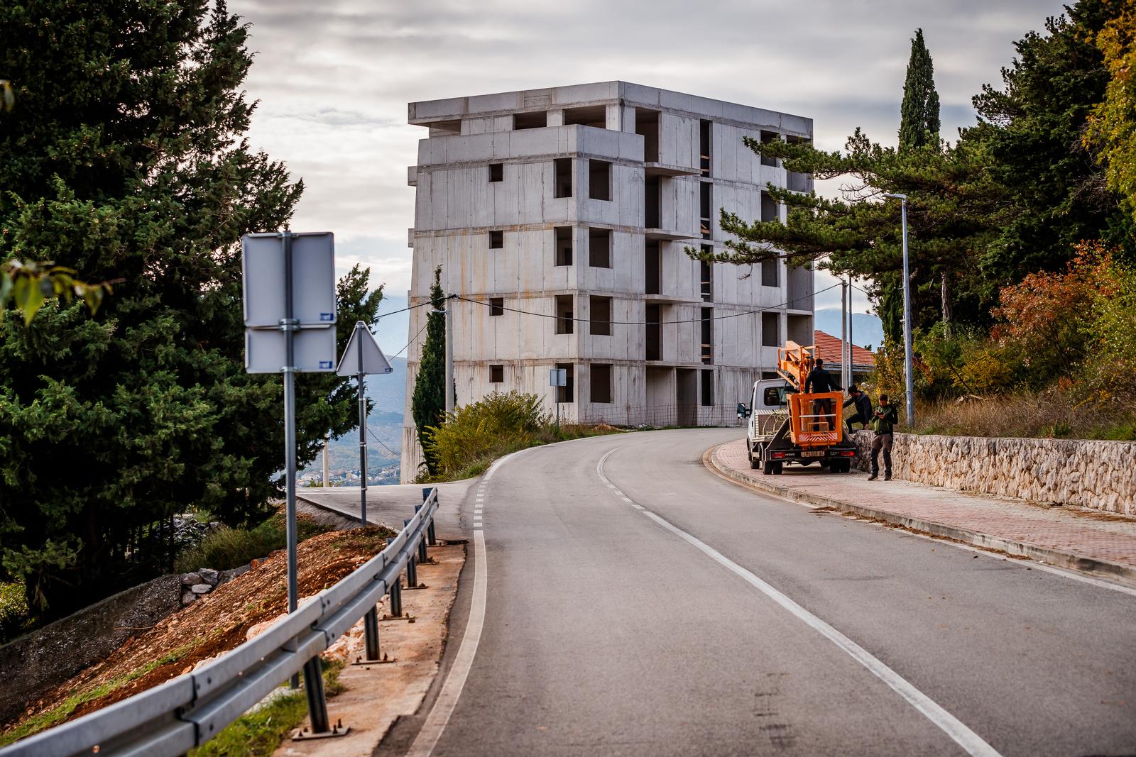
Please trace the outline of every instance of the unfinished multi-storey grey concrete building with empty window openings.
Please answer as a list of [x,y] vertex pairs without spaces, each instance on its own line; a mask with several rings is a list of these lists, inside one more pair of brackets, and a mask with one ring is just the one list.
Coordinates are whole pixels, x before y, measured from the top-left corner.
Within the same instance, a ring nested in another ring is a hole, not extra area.
[[[777,346],[810,342],[812,271],[684,249],[720,247],[720,208],[784,220],[767,184],[811,179],[742,137],[808,141],[811,119],[604,82],[412,102],[409,120],[429,128],[408,177],[410,304],[437,266],[474,301],[451,301],[459,405],[518,389],[569,421],[732,422]],[[428,310],[410,317],[403,480],[421,460],[410,397]]]

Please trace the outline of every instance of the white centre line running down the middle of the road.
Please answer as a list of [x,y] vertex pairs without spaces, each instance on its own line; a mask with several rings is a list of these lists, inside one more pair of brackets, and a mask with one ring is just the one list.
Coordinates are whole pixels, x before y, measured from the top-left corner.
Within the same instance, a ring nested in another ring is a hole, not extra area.
[[[600,480],[604,483],[608,482],[607,476],[603,474],[603,464],[607,462],[608,457],[616,452],[612,449],[596,464],[596,473],[600,474]],[[872,675],[878,678],[880,681],[886,683],[893,691],[903,697],[909,705],[914,707],[919,713],[921,713],[927,720],[938,726],[944,733],[946,733],[951,739],[954,740],[960,747],[962,747],[967,754],[974,755],[975,757],[1001,757],[999,751],[994,747],[986,743],[982,737],[971,731],[967,725],[957,718],[951,713],[946,712],[938,704],[935,703],[930,697],[925,695],[919,689],[914,688],[907,679],[893,671],[891,667],[885,665],[883,662],[877,659],[871,653],[858,645],[852,639],[847,638],[835,628],[820,620],[818,616],[810,613],[808,609],[796,604],[788,596],[782,594],[770,584],[762,581],[760,578],[745,570],[737,563],[735,563],[729,557],[726,557],[720,552],[710,547],[707,544],[700,541],[696,537],[691,536],[686,531],[682,530],[677,525],[671,524],[663,518],[655,515],[650,510],[643,508],[643,514],[653,520],[655,523],[667,529],[678,538],[693,545],[695,548],[701,550],[708,557],[713,560],[716,563],[738,575],[746,583],[758,589],[767,597],[776,602],[783,608],[792,613],[797,620],[803,621],[807,625],[812,628],[815,631],[819,632],[822,637],[835,644],[837,647],[843,649],[852,659],[857,661],[863,665]]]

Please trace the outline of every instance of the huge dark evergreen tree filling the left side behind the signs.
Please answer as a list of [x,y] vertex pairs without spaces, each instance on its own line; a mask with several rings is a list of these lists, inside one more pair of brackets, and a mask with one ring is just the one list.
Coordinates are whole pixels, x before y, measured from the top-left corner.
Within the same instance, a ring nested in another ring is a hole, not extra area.
[[[223,0],[30,0],[0,30],[0,261],[122,280],[94,317],[0,321],[0,579],[52,617],[168,570],[173,513],[239,524],[279,495],[282,384],[243,369],[239,241],[286,226],[302,183],[243,136],[252,56]],[[339,284],[341,348],[374,320],[367,284]],[[354,394],[296,384],[302,462]]]

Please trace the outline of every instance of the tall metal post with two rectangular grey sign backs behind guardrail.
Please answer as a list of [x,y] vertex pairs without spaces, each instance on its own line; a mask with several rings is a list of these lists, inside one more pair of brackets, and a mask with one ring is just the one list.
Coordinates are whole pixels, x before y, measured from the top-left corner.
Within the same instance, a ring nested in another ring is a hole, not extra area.
[[[331,233],[241,237],[244,368],[284,375],[284,491],[287,609],[299,602],[295,527],[295,373],[335,365],[335,249]],[[303,666],[312,731],[328,729],[319,657]],[[293,688],[298,685],[292,679]]]

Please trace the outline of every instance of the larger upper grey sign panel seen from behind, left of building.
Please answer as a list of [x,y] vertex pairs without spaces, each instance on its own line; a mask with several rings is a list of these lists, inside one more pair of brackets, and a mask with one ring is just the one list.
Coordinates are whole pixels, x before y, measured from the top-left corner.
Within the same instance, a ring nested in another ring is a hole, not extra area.
[[[285,317],[284,237],[241,237],[244,326],[278,326]],[[331,232],[292,234],[292,318],[301,326],[335,323],[335,239]]]

